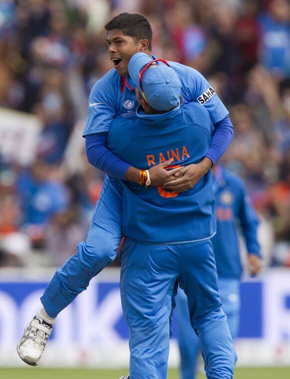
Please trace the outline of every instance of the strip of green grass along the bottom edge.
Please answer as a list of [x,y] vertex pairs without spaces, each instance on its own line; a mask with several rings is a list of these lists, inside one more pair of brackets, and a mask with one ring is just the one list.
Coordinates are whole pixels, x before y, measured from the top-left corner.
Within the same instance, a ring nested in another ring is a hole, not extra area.
[[[89,369],[0,369],[1,379],[119,379],[128,374],[124,370]],[[142,379],[142,378],[140,378]],[[169,370],[167,379],[178,379],[177,370]],[[198,379],[205,379],[200,375]],[[289,368],[237,368],[234,379],[290,379]]]

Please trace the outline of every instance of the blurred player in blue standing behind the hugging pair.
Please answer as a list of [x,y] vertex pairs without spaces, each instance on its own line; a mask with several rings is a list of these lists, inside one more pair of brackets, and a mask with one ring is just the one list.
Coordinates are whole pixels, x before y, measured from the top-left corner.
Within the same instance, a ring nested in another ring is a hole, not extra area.
[[[250,204],[245,184],[221,165],[214,167],[213,190],[216,200],[217,234],[213,237],[222,307],[232,338],[239,328],[240,259],[237,223],[245,238],[248,251],[248,269],[252,275],[261,269],[260,246],[257,241],[258,217]],[[187,298],[179,288],[176,296],[178,343],[180,349],[180,378],[196,378],[198,338],[192,333],[188,315]]]

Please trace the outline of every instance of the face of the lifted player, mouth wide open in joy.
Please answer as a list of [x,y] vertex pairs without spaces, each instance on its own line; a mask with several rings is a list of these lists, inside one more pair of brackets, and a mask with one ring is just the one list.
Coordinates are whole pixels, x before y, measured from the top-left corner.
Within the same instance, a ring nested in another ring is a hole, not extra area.
[[121,76],[128,75],[130,58],[140,51],[145,51],[143,41],[136,42],[120,29],[108,31],[107,43],[110,59]]

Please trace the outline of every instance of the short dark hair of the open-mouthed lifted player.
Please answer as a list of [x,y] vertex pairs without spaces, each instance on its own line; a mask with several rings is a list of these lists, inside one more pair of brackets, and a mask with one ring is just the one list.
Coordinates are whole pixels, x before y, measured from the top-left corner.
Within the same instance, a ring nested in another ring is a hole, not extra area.
[[125,35],[134,38],[136,42],[147,39],[151,50],[152,29],[149,21],[142,14],[120,13],[105,25],[105,30],[120,29]]

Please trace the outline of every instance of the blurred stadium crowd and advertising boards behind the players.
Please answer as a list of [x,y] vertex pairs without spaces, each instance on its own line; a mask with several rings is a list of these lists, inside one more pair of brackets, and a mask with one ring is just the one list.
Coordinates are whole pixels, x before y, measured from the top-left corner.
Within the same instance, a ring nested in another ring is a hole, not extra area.
[[[288,0],[0,1],[0,366],[10,367],[0,374],[40,374],[11,369],[23,367],[15,345],[54,267],[86,238],[103,173],[87,163],[81,132],[90,90],[112,67],[104,24],[124,10],[145,14],[154,54],[196,68],[230,110],[223,163],[247,183],[264,255],[262,274],[246,273],[241,288],[235,378],[290,378]],[[128,365],[118,265],[61,313],[42,367],[75,368],[63,378],[83,375],[78,367],[97,368],[87,378],[126,374],[98,371]],[[243,369],[255,366],[273,368]]]

